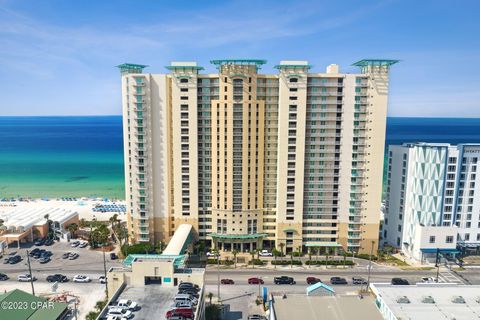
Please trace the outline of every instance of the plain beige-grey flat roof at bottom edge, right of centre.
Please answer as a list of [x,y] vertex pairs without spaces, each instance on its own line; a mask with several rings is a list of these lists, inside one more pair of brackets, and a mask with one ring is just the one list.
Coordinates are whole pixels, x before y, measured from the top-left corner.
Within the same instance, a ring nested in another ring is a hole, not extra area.
[[375,306],[375,299],[366,296],[307,296],[287,294],[274,297],[273,308],[278,320],[309,319],[309,320],[351,320],[368,319],[382,320]]

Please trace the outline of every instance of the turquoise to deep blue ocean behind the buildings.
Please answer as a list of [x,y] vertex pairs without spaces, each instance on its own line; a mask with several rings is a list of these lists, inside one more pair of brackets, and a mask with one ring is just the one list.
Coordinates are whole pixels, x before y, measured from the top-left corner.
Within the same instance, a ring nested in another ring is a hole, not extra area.
[[[480,143],[480,119],[388,118],[387,145]],[[0,117],[0,198],[124,198],[121,116]]]

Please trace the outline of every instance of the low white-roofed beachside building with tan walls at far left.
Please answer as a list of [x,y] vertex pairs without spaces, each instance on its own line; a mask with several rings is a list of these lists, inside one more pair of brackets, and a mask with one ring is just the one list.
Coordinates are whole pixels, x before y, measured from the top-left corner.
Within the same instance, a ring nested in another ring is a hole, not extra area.
[[48,220],[58,236],[66,237],[67,226],[78,223],[78,212],[65,208],[52,207],[14,207],[0,211],[0,242],[8,246],[16,242],[33,241],[48,234]]

